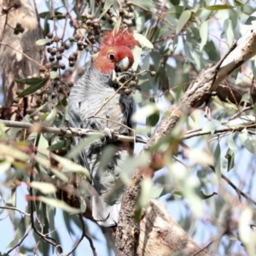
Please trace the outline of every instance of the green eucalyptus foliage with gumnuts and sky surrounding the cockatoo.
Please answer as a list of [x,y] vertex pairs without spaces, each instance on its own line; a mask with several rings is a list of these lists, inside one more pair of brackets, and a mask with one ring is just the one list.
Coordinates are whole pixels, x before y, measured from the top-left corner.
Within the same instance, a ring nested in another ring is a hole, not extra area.
[[[44,11],[38,6],[44,6]],[[155,72],[154,77],[150,73],[138,75],[133,94],[139,106],[137,134],[150,137],[166,107],[177,102],[196,74],[217,62],[247,32],[255,20],[256,5],[253,1],[50,0],[38,6],[35,14],[44,36],[27,47],[37,44],[44,57],[38,62],[36,75],[15,77],[16,83],[26,84],[26,89],[17,90],[14,101],[15,107],[22,110],[16,112],[15,119],[37,125],[28,131],[22,126],[8,128],[0,123],[1,219],[4,221],[8,216],[16,230],[3,253],[13,249],[14,255],[15,250],[27,255],[32,251],[48,255],[57,247],[61,251],[63,241],[54,218],[55,207],[65,211],[70,237],[75,237],[74,226],[81,230],[81,240],[85,233],[90,242],[100,236],[99,232],[91,231],[89,220],[82,224],[82,215],[68,215],[86,210],[88,191],[80,180],[86,180],[88,172],[72,161],[80,149],[72,148],[65,134],[42,132],[42,126],[67,127],[70,88],[83,73],[85,63],[90,65],[90,56],[98,51],[102,32],[127,26],[154,45],[150,49],[151,44],[139,38],[144,47],[137,47],[134,52],[137,73]],[[3,12],[2,19],[7,15]],[[8,22],[5,26],[9,26]],[[16,26],[10,29],[22,38],[26,24],[16,20]],[[5,32],[2,31],[2,43]],[[1,48],[8,46],[2,44]],[[143,181],[138,200],[143,207],[150,198],[160,197],[183,229],[202,247],[209,245],[207,250],[213,254],[255,255],[255,70],[253,58],[219,85],[217,96],[212,96],[207,106],[193,113],[189,109],[189,116],[184,113],[182,122],[155,148],[164,152],[166,168],[155,173],[154,182]],[[20,99],[32,94],[31,104],[26,108]],[[81,147],[95,139],[89,137]],[[137,152],[140,148],[137,145]],[[141,160],[129,160],[124,172],[130,176],[124,178],[131,177]],[[79,182],[73,182],[73,173],[77,173]],[[228,183],[222,173],[230,178]],[[70,183],[75,189],[68,194]],[[28,189],[26,209],[17,201],[20,186]],[[74,198],[76,193],[83,195],[79,204]],[[27,213],[16,214],[19,208]],[[33,211],[35,218],[30,215]],[[34,237],[33,245],[26,243],[28,233]],[[108,232],[105,237],[108,248],[102,241],[98,248],[104,253],[99,255],[111,252],[113,245]],[[22,238],[24,243],[20,242]],[[80,241],[76,238],[69,240],[74,252]],[[20,247],[16,248],[18,242]],[[70,249],[69,253],[73,251]]]

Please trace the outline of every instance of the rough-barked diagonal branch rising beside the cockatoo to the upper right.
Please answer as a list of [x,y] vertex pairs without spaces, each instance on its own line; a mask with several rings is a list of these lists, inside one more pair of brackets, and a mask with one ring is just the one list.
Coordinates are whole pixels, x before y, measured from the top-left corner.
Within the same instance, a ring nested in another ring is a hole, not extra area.
[[[145,145],[144,150],[151,148],[160,139],[166,137],[183,114],[191,112],[194,108],[200,107],[210,99],[212,91],[217,89],[218,84],[226,79],[236,68],[241,67],[245,61],[252,58],[253,55],[256,55],[256,23],[253,24],[247,35],[241,39],[241,43],[238,46],[230,49],[230,52],[221,61],[218,61],[215,66],[202,71],[198,79],[189,85],[189,89],[184,93],[180,101],[168,108],[164,118],[161,119],[160,124],[154,130],[154,134]],[[131,216],[134,216],[136,212],[135,203],[128,203],[127,199],[134,198],[134,201],[136,201],[140,191],[140,181],[141,177],[136,173],[132,177],[131,185],[126,189],[123,197],[118,226],[124,227],[123,223],[126,225],[124,228],[118,228],[117,230],[115,240],[115,253],[117,256],[136,255],[139,234],[136,232],[136,236],[134,236],[132,231],[137,230],[137,224],[135,221],[129,222]],[[124,253],[123,248],[125,248],[127,237],[130,238],[129,251],[125,250]]]

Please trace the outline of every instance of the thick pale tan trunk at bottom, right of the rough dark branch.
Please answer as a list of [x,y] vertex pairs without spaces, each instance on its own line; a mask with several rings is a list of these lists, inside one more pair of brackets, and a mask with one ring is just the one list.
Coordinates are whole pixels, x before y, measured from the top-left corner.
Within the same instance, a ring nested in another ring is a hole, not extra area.
[[[151,200],[140,222],[138,256],[209,255],[201,251],[159,201]],[[128,255],[128,254],[126,254]]]

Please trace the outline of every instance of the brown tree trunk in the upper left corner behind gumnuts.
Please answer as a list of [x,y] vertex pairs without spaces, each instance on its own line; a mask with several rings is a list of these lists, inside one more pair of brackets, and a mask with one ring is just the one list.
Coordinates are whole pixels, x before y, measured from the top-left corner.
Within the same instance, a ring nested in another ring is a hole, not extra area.
[[[38,74],[38,66],[26,58],[28,55],[32,60],[40,63],[41,52],[35,42],[42,38],[38,25],[38,18],[29,0],[0,0],[0,41],[12,48],[0,45],[0,66],[3,79],[3,96],[6,109],[5,119],[16,119],[16,113],[28,108],[32,98],[16,100],[17,90],[24,90],[25,84],[17,84],[15,79],[24,79]],[[24,28],[24,32],[15,35],[14,28],[17,23]],[[17,49],[18,51],[16,51]],[[3,117],[3,116],[2,116]]]

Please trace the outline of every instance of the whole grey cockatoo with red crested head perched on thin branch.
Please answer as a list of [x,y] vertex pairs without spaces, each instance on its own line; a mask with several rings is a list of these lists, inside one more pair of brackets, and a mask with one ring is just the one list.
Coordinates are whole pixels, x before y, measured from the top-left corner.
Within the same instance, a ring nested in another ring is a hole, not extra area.
[[[137,41],[133,35],[123,28],[120,28],[119,32],[111,31],[104,34],[96,59],[71,90],[68,99],[71,127],[96,131],[106,131],[107,128],[111,132],[131,135],[131,130],[127,127],[134,127],[131,116],[136,111],[136,104],[131,94],[125,94],[123,89],[115,94],[121,83],[114,81],[116,80],[114,78],[115,73],[119,73],[120,80],[131,78],[132,73],[128,69],[134,62],[131,50],[136,45]],[[90,118],[95,113],[103,119]],[[81,140],[82,138],[74,137],[73,143],[77,145]],[[84,148],[79,155],[79,164],[89,170],[91,183],[99,194],[91,196],[92,216],[98,224],[105,227],[118,223],[125,187],[113,191],[114,194],[110,196],[111,201],[108,195],[117,186],[123,164],[133,151],[131,143],[110,141],[99,140]],[[116,147],[115,153],[108,165],[102,169],[100,165],[102,150],[109,144]]]

